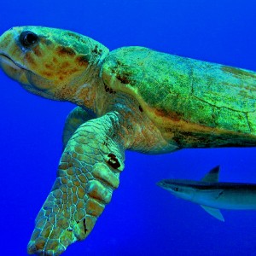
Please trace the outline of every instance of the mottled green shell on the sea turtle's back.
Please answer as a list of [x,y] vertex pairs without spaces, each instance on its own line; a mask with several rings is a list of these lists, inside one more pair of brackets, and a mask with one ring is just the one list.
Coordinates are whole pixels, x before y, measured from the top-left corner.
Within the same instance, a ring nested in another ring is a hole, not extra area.
[[159,126],[183,121],[256,133],[254,72],[125,47],[108,55],[102,78],[113,90],[134,96]]

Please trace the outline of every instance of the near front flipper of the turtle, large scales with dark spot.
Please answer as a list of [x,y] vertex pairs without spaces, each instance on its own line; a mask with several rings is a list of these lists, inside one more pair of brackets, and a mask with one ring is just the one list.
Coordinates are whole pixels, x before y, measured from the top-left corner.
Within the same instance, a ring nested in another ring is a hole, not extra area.
[[67,143],[58,177],[36,218],[28,253],[60,255],[84,240],[119,186],[124,148],[115,113],[80,125]]

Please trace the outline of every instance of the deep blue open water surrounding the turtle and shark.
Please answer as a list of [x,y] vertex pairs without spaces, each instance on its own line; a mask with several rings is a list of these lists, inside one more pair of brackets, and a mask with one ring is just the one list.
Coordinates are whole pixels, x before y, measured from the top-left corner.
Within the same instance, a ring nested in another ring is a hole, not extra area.
[[[52,26],[80,32],[109,49],[141,45],[256,71],[256,2],[4,1],[0,32]],[[32,96],[3,72],[1,81],[0,255],[26,255],[34,219],[55,181],[61,132],[73,105]],[[82,242],[64,255],[255,255],[256,212],[223,211],[225,223],[155,185],[200,179],[256,183],[255,148],[127,152],[119,189]]]

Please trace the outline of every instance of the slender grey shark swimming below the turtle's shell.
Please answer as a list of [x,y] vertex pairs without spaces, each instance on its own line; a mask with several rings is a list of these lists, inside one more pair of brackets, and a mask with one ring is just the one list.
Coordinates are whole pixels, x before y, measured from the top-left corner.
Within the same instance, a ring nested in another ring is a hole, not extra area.
[[256,184],[219,182],[219,170],[220,166],[212,168],[201,181],[163,179],[157,185],[178,198],[200,205],[223,222],[220,209],[256,210]]

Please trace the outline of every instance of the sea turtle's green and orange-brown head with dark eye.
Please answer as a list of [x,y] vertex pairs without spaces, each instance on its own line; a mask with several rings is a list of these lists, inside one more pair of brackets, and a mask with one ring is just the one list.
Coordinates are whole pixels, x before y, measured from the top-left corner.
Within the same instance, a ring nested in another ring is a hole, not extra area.
[[18,26],[0,37],[3,71],[26,90],[55,100],[73,102],[78,87],[98,76],[106,55],[102,44],[61,29]]

